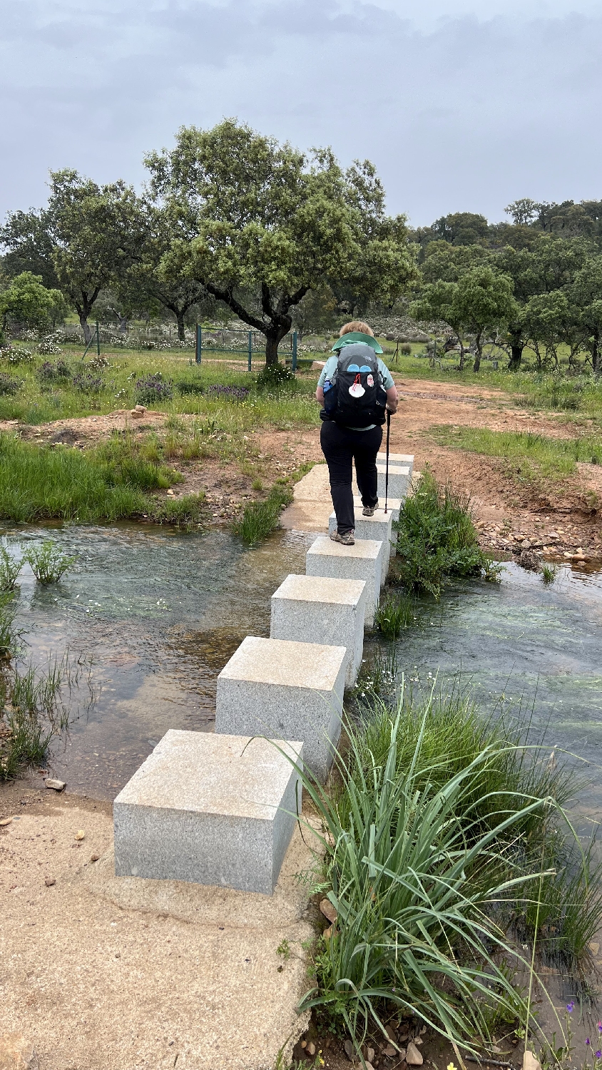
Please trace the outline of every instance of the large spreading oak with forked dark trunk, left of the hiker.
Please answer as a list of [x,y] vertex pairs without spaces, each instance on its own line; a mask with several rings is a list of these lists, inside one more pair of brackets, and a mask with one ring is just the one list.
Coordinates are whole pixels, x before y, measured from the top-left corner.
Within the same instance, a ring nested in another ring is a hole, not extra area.
[[290,144],[225,120],[182,127],[171,152],[151,153],[153,208],[170,220],[160,275],[194,279],[266,337],[266,363],[293,309],[328,278],[391,304],[416,277],[403,216],[385,214],[374,167],[342,171],[329,149],[308,159]]

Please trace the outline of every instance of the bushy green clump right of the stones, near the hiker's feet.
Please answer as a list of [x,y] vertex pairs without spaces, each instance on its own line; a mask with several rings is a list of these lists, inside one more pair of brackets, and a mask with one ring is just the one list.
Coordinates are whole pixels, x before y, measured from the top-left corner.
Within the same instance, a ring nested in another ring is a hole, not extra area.
[[500,566],[479,547],[470,499],[449,484],[441,486],[428,469],[405,499],[396,528],[391,578],[406,591],[428,591],[438,598],[453,577],[499,576]]

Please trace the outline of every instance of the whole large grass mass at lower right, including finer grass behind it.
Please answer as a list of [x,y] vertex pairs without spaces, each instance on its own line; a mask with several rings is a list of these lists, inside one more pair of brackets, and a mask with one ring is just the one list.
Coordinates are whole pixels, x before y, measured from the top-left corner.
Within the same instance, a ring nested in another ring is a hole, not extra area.
[[303,1006],[358,1052],[407,1014],[468,1050],[500,1021],[524,1028],[513,975],[528,944],[575,969],[602,921],[600,867],[564,813],[574,774],[461,694],[372,694],[348,734],[328,791],[304,775],[324,851],[314,890],[336,921]]

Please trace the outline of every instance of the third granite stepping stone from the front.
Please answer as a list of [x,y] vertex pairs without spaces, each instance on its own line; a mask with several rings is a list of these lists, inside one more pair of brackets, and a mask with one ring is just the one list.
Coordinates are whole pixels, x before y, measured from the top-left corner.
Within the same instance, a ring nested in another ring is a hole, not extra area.
[[288,576],[272,595],[272,639],[344,646],[345,687],[353,687],[364,653],[366,581]]

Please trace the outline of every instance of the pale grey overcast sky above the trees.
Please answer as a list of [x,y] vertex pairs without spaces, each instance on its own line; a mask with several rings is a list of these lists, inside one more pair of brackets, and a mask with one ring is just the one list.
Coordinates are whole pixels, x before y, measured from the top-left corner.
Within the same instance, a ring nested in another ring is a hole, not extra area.
[[0,218],[225,116],[372,159],[415,226],[602,199],[602,0],[0,0]]

